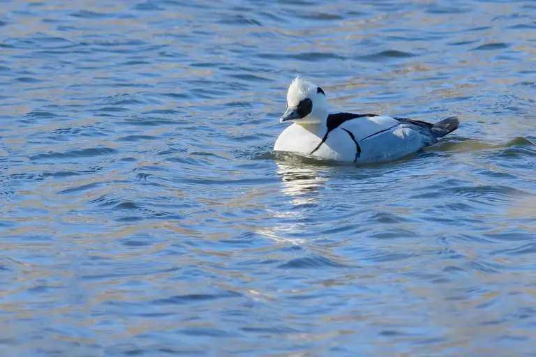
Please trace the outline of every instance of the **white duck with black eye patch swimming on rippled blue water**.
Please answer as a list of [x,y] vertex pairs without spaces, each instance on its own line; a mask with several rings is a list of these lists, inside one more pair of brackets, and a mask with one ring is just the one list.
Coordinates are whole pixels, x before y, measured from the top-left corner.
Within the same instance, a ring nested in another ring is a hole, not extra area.
[[355,163],[398,160],[437,144],[459,126],[457,116],[433,124],[380,114],[329,114],[325,91],[299,76],[288,87],[279,121],[292,125],[278,136],[274,151]]

